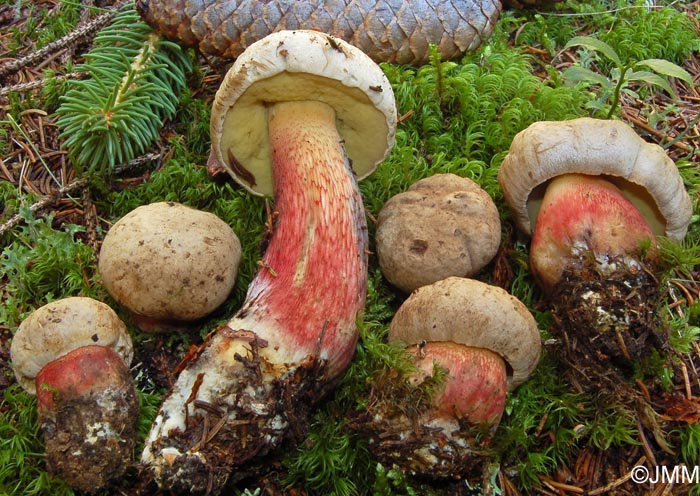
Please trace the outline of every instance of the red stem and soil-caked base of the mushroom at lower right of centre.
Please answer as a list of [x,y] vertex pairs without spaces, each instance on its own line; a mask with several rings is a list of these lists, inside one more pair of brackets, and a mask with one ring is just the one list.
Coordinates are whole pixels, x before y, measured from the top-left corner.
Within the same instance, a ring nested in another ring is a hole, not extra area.
[[479,476],[505,406],[503,359],[453,342],[407,351],[417,371],[377,381],[351,426],[387,466],[434,479]]

